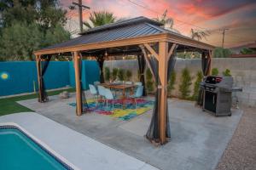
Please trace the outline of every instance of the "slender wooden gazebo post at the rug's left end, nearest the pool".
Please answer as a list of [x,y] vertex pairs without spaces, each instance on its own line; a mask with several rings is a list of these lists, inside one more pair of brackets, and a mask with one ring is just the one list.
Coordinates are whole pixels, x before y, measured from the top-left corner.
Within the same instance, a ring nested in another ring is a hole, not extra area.
[[81,96],[81,82],[80,82],[80,56],[79,52],[73,52],[73,64],[75,70],[75,82],[76,82],[76,101],[77,101],[77,116],[82,115],[82,96]]

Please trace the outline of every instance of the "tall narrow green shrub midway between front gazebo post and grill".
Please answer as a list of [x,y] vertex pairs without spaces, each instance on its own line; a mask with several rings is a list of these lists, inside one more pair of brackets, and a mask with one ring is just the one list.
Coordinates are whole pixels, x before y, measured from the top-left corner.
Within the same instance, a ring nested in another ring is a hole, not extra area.
[[184,68],[182,71],[181,77],[181,84],[179,85],[179,92],[181,93],[181,99],[189,99],[190,89],[191,86],[191,77],[189,74],[189,69]]

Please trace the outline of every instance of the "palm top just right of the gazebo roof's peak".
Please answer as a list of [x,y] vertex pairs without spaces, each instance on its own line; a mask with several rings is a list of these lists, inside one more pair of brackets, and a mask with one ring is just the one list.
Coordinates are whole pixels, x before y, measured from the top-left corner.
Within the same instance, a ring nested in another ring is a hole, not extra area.
[[171,17],[167,16],[167,12],[168,11],[166,9],[164,14],[162,14],[162,16],[160,18],[158,17],[158,18],[155,18],[154,20],[163,24],[164,28],[166,30],[173,31],[173,32],[176,32],[176,33],[180,34],[180,31],[177,31],[175,28],[173,28],[174,20]]

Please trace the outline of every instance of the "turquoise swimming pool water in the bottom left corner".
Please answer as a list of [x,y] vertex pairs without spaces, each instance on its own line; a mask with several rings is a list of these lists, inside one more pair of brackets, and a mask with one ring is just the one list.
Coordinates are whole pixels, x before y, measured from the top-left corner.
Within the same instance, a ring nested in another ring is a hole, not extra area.
[[0,128],[0,169],[67,169],[17,128]]

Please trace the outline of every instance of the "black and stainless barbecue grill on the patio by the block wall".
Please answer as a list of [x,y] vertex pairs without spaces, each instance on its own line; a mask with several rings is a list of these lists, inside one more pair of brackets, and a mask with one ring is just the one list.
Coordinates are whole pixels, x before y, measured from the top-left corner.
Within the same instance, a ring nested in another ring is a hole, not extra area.
[[232,92],[241,91],[241,88],[233,88],[233,77],[208,76],[200,85],[203,91],[203,111],[215,116],[231,116]]

